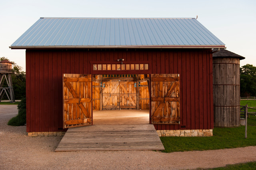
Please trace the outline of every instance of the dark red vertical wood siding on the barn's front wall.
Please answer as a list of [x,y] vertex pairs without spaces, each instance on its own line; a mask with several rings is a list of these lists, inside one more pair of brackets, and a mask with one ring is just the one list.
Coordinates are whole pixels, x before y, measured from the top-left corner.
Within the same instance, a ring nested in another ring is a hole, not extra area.
[[213,128],[211,49],[27,49],[27,132],[62,130],[62,74],[91,74],[91,61],[149,63],[149,73],[180,74],[180,125]]

